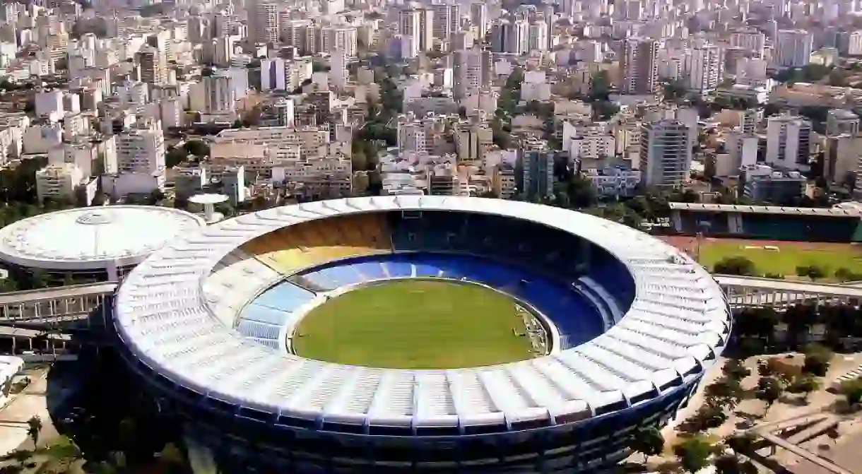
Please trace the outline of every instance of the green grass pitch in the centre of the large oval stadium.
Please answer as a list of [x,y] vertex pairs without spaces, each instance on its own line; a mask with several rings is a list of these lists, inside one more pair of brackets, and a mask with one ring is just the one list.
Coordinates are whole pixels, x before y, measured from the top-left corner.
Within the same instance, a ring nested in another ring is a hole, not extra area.
[[452,369],[530,359],[515,302],[473,284],[396,281],[312,309],[293,349],[309,359],[398,369]]

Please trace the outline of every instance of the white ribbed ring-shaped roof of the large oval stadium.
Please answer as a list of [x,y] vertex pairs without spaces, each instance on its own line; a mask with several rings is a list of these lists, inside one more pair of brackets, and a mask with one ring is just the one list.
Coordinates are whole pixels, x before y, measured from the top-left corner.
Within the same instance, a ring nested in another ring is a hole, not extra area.
[[[229,327],[247,302],[284,278],[257,259],[242,259],[241,244],[303,221],[388,210],[503,215],[578,234],[628,265],[634,302],[605,334],[581,346],[506,365],[441,371],[303,359],[244,340]],[[216,283],[210,277],[216,268],[235,277]],[[215,296],[234,299],[215,309]],[[132,355],[172,384],[264,419],[515,429],[519,422],[582,419],[680,386],[713,363],[730,320],[721,289],[703,267],[622,224],[497,199],[380,196],[267,209],[187,234],[129,274],[116,298],[115,325]]]

